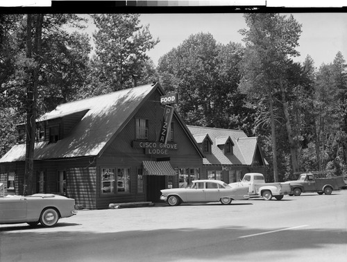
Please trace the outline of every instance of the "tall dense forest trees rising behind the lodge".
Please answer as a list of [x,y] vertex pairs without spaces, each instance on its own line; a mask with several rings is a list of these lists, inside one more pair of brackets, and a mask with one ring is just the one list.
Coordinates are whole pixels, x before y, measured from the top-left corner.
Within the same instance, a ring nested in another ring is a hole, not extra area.
[[[158,66],[147,53],[160,40],[139,15],[89,19],[96,26],[93,52],[81,33],[85,17],[0,14],[0,157],[17,143],[17,124],[26,123],[32,159],[35,119],[60,103],[133,87],[136,75],[137,85],[160,82],[177,92],[176,110],[188,125],[258,137],[268,181],[303,171],[347,175],[346,61],[337,52],[318,69],[310,55],[294,62],[302,26],[291,15],[246,13],[242,43],[196,33]],[[28,161],[26,172],[32,168]]]

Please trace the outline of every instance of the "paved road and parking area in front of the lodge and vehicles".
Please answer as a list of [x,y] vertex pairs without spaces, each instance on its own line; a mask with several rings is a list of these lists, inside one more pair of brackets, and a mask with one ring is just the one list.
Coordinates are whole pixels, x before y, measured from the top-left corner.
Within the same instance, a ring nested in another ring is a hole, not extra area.
[[0,225],[0,261],[347,261],[347,190]]

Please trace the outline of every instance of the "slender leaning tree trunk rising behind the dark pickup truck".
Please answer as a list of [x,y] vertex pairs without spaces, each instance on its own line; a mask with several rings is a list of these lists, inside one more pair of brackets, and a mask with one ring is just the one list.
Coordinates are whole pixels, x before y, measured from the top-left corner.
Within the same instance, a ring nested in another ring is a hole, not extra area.
[[285,99],[285,90],[283,88],[282,81],[280,82],[280,92],[281,92],[281,98],[282,98],[282,104],[283,104],[283,112],[285,113],[285,126],[287,128],[287,135],[288,135],[288,141],[289,141],[289,150],[290,150],[290,155],[291,155],[291,166],[293,168],[293,172],[296,173],[299,171],[298,157],[296,155],[296,146],[294,143],[293,131],[291,130],[291,123],[290,123],[289,110],[288,110],[288,102]]

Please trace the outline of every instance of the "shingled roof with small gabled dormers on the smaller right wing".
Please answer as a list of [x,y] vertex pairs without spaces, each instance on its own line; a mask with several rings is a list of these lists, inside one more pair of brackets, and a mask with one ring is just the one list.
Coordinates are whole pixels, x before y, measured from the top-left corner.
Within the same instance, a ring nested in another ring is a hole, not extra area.
[[[196,138],[197,143],[202,143],[201,137],[208,135],[212,141],[211,154],[205,154],[203,164],[205,165],[247,165],[253,164],[255,153],[257,152],[257,137],[247,137],[242,130],[229,130],[222,128],[205,128],[199,126],[188,125],[189,131]],[[230,137],[233,146],[233,154],[224,154],[218,146],[223,144]],[[267,164],[264,159],[264,163]]]

